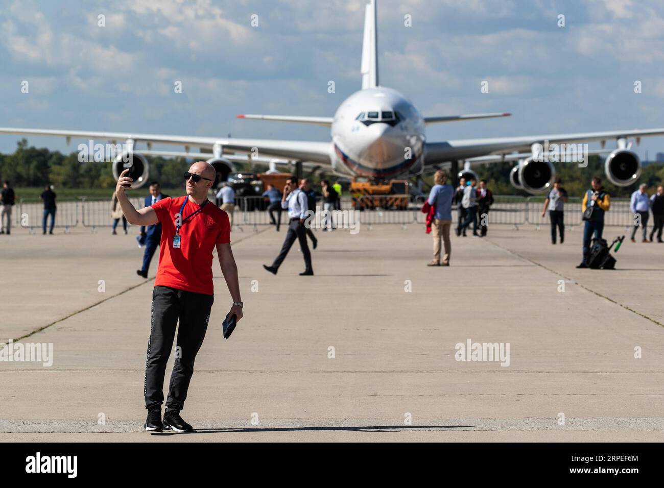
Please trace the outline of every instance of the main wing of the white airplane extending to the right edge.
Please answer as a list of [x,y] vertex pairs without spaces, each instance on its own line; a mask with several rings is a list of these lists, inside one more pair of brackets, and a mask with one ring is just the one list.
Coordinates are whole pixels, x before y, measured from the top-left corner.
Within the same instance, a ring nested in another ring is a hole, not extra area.
[[435,165],[446,161],[470,159],[491,154],[506,154],[512,151],[530,151],[533,144],[540,143],[544,145],[544,141],[548,141],[548,143],[584,143],[596,141],[604,143],[607,139],[635,137],[638,143],[641,137],[652,137],[655,135],[664,135],[664,128],[550,135],[523,135],[519,137],[495,137],[492,139],[459,139],[456,141],[428,142],[425,145],[426,158],[424,164]]

